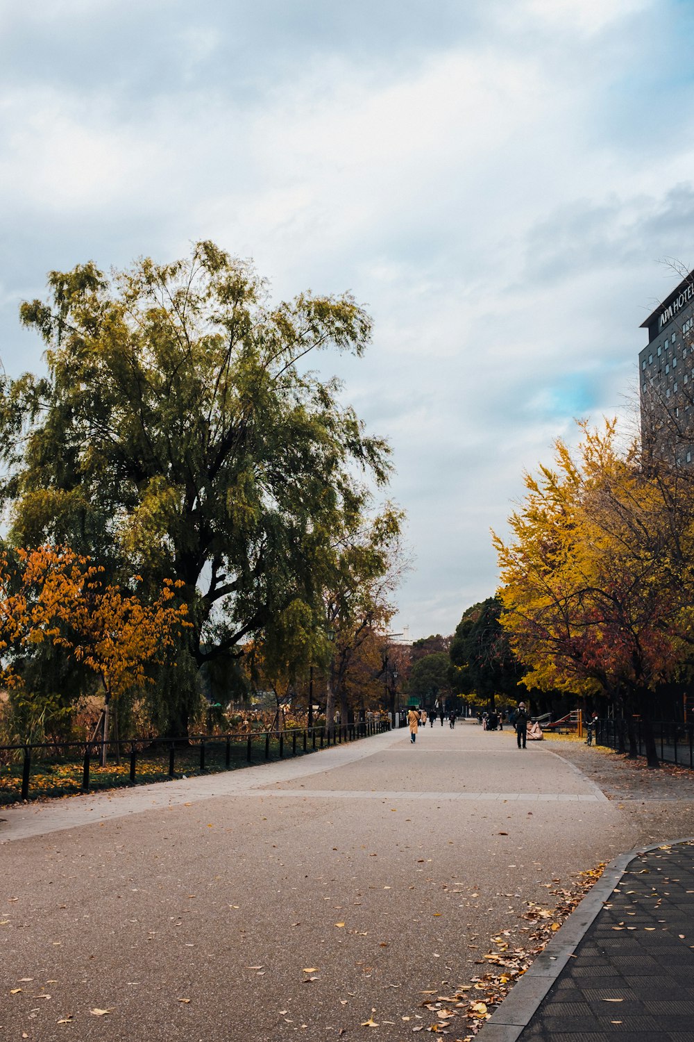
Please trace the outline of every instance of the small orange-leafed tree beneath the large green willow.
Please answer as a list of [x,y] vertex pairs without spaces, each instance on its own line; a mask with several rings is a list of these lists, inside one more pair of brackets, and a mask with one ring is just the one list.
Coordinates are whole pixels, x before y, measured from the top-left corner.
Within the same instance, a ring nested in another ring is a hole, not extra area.
[[[103,580],[103,568],[63,546],[19,549],[12,569],[0,559],[0,649],[8,686],[20,683],[17,662],[32,645],[51,641],[97,674],[104,690],[103,751],[112,701],[152,680],[186,620],[177,584],[164,580],[145,603],[134,590]],[[142,581],[133,577],[133,587]]]

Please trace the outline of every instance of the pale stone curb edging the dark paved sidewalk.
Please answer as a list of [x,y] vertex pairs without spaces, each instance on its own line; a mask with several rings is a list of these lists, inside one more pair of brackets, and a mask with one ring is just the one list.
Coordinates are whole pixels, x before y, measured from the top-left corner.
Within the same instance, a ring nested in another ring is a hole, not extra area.
[[609,900],[628,865],[639,855],[664,846],[692,843],[694,837],[635,847],[610,862],[600,878],[564,921],[562,928],[513,986],[500,1006],[478,1033],[485,1042],[516,1042],[535,1016],[542,999],[568,963],[580,942]]

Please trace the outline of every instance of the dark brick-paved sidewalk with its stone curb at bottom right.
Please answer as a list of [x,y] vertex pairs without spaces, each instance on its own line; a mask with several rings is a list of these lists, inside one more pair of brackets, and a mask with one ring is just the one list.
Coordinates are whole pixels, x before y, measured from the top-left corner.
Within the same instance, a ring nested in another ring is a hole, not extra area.
[[479,1037],[694,1042],[694,841],[616,859]]

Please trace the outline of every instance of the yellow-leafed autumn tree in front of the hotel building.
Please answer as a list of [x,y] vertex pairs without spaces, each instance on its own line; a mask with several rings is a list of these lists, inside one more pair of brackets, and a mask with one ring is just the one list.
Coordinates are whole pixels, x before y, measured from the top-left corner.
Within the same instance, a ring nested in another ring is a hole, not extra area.
[[665,464],[621,451],[616,424],[583,425],[574,456],[557,443],[555,468],[526,476],[528,493],[496,538],[508,628],[526,687],[602,691],[649,721],[659,685],[692,644],[691,498]]

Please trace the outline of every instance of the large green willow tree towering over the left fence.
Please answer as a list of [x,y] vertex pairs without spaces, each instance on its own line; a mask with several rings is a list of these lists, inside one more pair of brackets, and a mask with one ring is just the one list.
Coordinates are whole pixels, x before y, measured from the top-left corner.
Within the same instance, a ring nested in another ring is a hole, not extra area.
[[[298,604],[318,622],[389,449],[305,359],[360,355],[368,316],[349,295],[273,306],[254,269],[210,242],[110,278],[91,263],[52,272],[49,289],[21,308],[48,376],[2,397],[12,541],[66,542],[153,585],[181,579],[190,673],[272,635]],[[187,722],[190,698],[179,701],[170,728]]]

